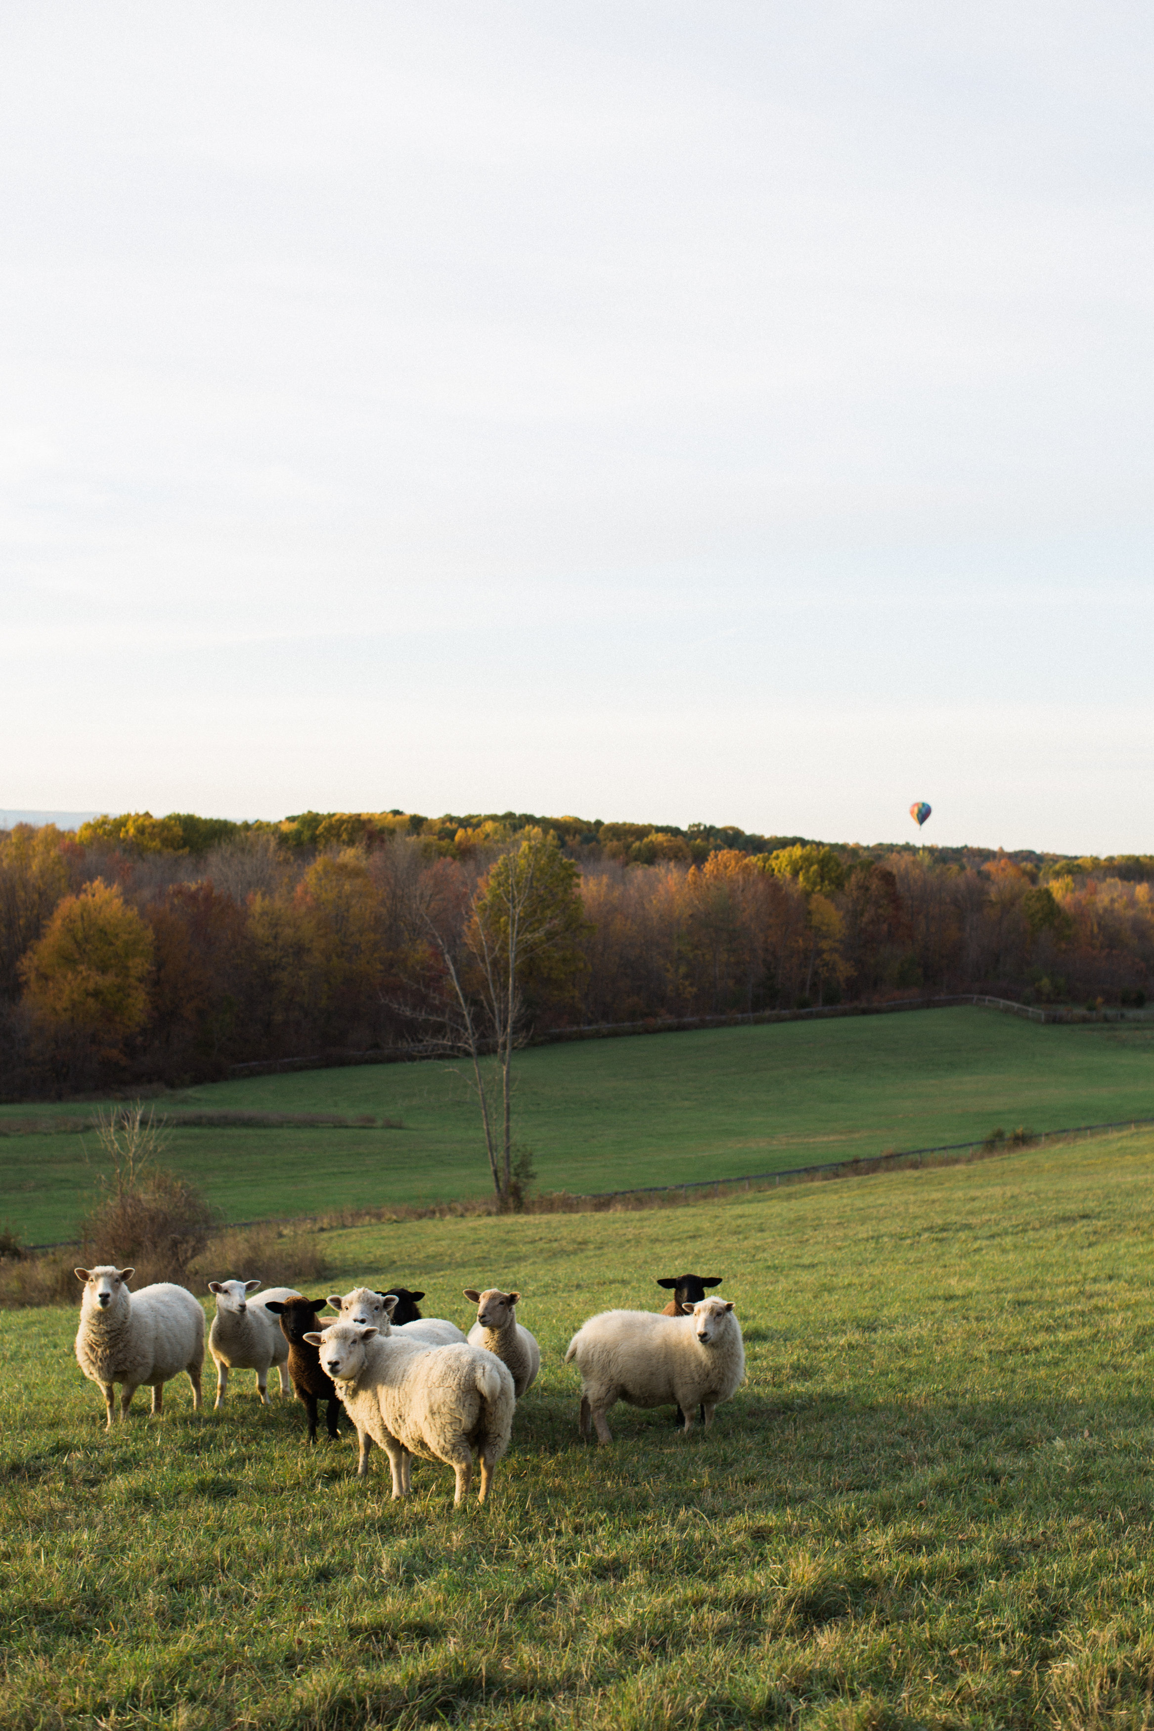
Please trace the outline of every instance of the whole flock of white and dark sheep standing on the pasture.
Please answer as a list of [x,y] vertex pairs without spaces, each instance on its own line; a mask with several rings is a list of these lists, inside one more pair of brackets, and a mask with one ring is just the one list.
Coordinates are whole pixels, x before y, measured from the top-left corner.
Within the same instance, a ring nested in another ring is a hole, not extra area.
[[[183,1286],[168,1283],[130,1291],[133,1269],[111,1264],[76,1269],[83,1281],[76,1359],[104,1392],[107,1428],[126,1418],[140,1387],[152,1388],[152,1411],[163,1411],[164,1383],[182,1371],[201,1411],[204,1310]],[[673,1298],[661,1312],[602,1310],[585,1322],[566,1352],[581,1374],[580,1432],[612,1442],[606,1412],[618,1400],[638,1407],[676,1406],[683,1430],[701,1411],[704,1425],[728,1400],[746,1374],[746,1350],[734,1305],[711,1298],[718,1276],[680,1274],[657,1281]],[[389,1458],[393,1496],[410,1490],[414,1454],[443,1461],[457,1475],[455,1503],[481,1468],[479,1501],[512,1435],[517,1400],[531,1388],[542,1354],[517,1322],[519,1293],[497,1286],[465,1290],[478,1317],[465,1336],[455,1322],[422,1317],[424,1293],[396,1286],[377,1291],[355,1286],[344,1297],[305,1298],[291,1286],[256,1291],[258,1281],[211,1281],[216,1316],[209,1352],[216,1364],[216,1407],[225,1399],[228,1371],[256,1371],[260,1399],[268,1402],[268,1373],[277,1367],[280,1392],[289,1385],[308,1411],[308,1440],[317,1442],[320,1402],[327,1402],[329,1435],[337,1435],[341,1407],[356,1426],[356,1473],[369,1470],[377,1444]],[[337,1317],[322,1326],[330,1305]]]

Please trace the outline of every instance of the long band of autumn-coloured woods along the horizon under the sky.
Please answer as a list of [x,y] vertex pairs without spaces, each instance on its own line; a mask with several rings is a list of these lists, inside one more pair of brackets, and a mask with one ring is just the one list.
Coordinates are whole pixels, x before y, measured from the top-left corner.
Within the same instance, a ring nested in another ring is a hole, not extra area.
[[538,1033],[914,992],[1137,1004],[1154,978],[1147,857],[531,814],[125,814],[0,831],[3,1096],[420,1044],[446,930],[526,838],[573,895],[564,966],[526,973]]

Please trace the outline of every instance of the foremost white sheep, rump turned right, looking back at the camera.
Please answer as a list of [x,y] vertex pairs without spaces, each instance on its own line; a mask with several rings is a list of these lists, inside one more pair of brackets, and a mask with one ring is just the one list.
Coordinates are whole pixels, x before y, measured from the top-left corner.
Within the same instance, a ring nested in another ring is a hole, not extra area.
[[318,1347],[322,1369],[356,1425],[358,1478],[369,1471],[374,1442],[389,1458],[394,1497],[412,1489],[414,1454],[445,1461],[457,1475],[457,1506],[469,1494],[476,1452],[481,1461],[478,1501],[484,1503],[497,1463],[509,1447],[516,1406],[512,1376],[500,1359],[469,1345],[420,1347],[355,1322],[332,1322],[305,1340]]

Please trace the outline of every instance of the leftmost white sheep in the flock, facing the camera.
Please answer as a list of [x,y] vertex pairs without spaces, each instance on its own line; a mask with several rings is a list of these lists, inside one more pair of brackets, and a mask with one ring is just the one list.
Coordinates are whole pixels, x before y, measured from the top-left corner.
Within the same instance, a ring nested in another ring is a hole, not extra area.
[[121,1383],[119,1416],[144,1383],[152,1390],[152,1411],[161,1412],[164,1383],[180,1371],[192,1383],[192,1411],[201,1411],[201,1366],[204,1364],[204,1310],[183,1286],[163,1281],[128,1291],[135,1269],[102,1264],[76,1269],[85,1283],[76,1331],[76,1362],[100,1385],[112,1428],[114,1388]]

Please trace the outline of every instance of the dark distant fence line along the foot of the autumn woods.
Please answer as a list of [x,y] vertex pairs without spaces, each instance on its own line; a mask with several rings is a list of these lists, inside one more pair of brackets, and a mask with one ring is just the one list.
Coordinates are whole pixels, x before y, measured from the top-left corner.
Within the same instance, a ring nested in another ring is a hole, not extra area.
[[[531,1046],[564,1046],[569,1040],[612,1040],[633,1033],[692,1033],[699,1028],[740,1028],[775,1021],[834,1021],[839,1016],[891,1016],[910,1009],[950,1009],[972,1004],[978,1009],[998,1009],[1009,1016],[1024,1016],[1038,1023],[1107,1023],[1152,1021],[1154,1011],[1145,1009],[1074,1009],[1064,1006],[1019,1004],[1009,997],[990,997],[984,992],[958,992],[952,997],[898,997],[882,1004],[817,1004],[810,1009],[753,1009],[718,1016],[647,1016],[642,1021],[590,1021],[580,1028],[550,1028],[535,1035]],[[275,1075],[280,1070],[336,1070],[344,1065],[405,1065],[426,1058],[445,1058],[443,1047],[433,1044],[374,1046],[369,1051],[334,1049],[311,1052],[305,1058],[256,1058],[253,1063],[228,1065],[230,1075]]]

